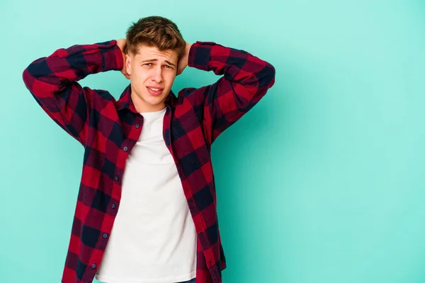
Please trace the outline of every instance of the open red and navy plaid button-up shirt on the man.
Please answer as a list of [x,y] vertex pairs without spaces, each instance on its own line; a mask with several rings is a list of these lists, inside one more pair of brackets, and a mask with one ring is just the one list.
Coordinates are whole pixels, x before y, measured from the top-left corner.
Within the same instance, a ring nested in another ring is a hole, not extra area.
[[[166,98],[163,136],[196,227],[196,282],[220,283],[226,263],[217,222],[211,144],[273,86],[275,69],[248,52],[214,42],[194,43],[188,66],[224,76],[210,86],[183,88],[178,96],[171,92]],[[57,50],[23,71],[23,81],[42,110],[84,146],[64,283],[94,279],[120,207],[125,161],[143,126],[130,86],[115,100],[108,91],[83,88],[77,81],[120,69],[123,56],[111,40]]]

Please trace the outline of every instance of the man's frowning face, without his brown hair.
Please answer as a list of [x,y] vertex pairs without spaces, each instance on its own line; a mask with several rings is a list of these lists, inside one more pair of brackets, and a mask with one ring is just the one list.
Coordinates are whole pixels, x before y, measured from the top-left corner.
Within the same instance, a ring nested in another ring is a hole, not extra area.
[[128,54],[125,67],[130,75],[131,98],[137,112],[154,112],[165,108],[176,78],[178,55],[174,50],[140,45],[137,54]]

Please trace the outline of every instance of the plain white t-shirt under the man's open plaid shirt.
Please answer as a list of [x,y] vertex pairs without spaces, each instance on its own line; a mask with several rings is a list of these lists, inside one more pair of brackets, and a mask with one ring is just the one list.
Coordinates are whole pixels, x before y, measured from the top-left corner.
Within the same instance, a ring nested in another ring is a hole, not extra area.
[[196,277],[196,230],[162,134],[165,112],[140,113],[142,133],[126,161],[120,208],[96,275],[101,282]]

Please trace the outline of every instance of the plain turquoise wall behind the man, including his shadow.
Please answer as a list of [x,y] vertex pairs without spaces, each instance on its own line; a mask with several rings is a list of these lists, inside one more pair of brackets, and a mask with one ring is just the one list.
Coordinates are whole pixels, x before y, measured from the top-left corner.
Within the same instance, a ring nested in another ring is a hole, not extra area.
[[[2,1],[0,281],[60,282],[83,147],[22,81],[58,48],[170,18],[276,67],[212,147],[226,282],[425,282],[425,2]],[[218,77],[187,68],[173,91]],[[118,71],[81,84],[120,96]]]

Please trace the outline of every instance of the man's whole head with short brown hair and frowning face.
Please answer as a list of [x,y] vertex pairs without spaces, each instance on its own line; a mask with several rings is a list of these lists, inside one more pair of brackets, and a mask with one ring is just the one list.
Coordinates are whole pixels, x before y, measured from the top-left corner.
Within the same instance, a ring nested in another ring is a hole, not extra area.
[[139,112],[162,110],[186,42],[177,25],[159,16],[141,18],[127,30],[125,68]]

